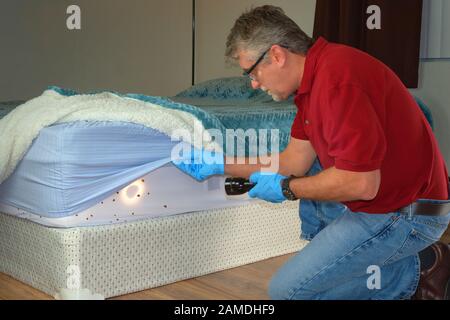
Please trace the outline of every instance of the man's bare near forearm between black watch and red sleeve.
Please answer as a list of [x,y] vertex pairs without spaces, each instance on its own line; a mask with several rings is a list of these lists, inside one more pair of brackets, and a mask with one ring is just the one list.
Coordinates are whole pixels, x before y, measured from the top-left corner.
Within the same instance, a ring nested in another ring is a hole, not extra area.
[[300,199],[319,201],[371,200],[378,192],[379,178],[376,171],[360,173],[332,167],[315,176],[293,179],[289,186]]

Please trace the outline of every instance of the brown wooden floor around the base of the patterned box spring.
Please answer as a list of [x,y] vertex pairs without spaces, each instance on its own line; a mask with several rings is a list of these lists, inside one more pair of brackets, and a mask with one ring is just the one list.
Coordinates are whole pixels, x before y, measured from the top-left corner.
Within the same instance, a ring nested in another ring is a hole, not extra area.
[[[450,228],[447,229],[441,240],[450,243]],[[271,276],[291,256],[292,254],[276,257],[159,288],[115,297],[111,300],[266,300],[269,298],[267,296],[267,285]],[[53,299],[53,297],[0,273],[0,299],[48,300]]]

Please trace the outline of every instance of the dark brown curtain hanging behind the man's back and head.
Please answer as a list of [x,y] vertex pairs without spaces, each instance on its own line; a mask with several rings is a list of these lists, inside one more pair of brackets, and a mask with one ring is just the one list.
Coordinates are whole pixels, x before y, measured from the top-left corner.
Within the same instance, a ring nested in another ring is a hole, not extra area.
[[[381,29],[366,26],[370,5],[381,9]],[[361,49],[417,88],[422,0],[317,0],[314,38]]]

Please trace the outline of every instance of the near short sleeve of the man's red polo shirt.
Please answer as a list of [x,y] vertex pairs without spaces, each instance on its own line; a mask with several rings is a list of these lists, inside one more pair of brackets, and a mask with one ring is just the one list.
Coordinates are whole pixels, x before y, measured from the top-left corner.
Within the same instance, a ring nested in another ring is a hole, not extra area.
[[386,137],[381,110],[376,112],[369,96],[354,85],[330,89],[322,110],[328,155],[337,169],[367,172],[381,168]]

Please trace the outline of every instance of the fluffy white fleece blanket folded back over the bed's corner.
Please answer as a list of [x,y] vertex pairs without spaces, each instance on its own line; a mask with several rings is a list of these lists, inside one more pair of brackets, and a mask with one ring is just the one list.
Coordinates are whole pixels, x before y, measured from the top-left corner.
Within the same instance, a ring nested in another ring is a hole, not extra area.
[[0,120],[0,183],[14,171],[41,129],[80,120],[132,122],[169,136],[182,129],[189,132],[183,139],[195,147],[217,147],[201,121],[188,112],[109,92],[64,96],[46,90]]

